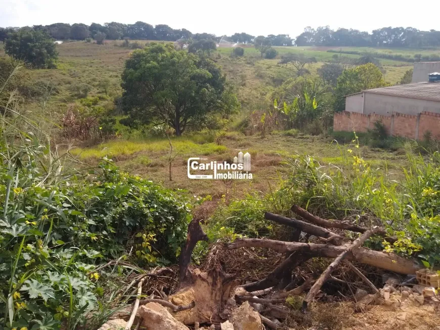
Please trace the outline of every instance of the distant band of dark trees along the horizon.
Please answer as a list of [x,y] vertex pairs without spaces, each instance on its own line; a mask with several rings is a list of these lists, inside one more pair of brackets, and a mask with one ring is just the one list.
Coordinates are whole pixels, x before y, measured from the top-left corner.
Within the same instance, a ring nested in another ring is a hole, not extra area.
[[[34,30],[47,32],[57,40],[83,40],[88,37],[95,38],[105,35],[106,39],[119,40],[124,38],[165,40],[174,42],[179,39],[214,40],[219,42],[222,38],[232,43],[253,44],[255,36],[242,32],[234,33],[231,36],[216,36],[211,33],[192,33],[183,29],[173,29],[166,24],[151,24],[138,21],[134,24],[123,24],[118,22],[105,23],[104,25],[92,23],[67,24],[55,23],[51,25],[34,25]],[[18,28],[0,27],[0,40],[4,41],[8,33]],[[261,37],[261,36],[259,36]],[[370,34],[366,31],[356,29],[339,28],[330,29],[329,26],[312,28],[307,26],[296,38],[289,34],[269,34],[266,37],[272,46],[344,46],[344,47],[439,47],[440,31],[421,31],[413,27],[383,27],[373,30]]]

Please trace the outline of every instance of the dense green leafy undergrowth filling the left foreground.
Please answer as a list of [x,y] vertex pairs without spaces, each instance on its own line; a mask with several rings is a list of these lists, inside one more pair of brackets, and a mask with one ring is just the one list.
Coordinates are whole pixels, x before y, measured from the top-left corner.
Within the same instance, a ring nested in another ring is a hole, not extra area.
[[[175,262],[189,202],[109,159],[81,180],[37,138],[45,135],[32,131],[31,114],[0,121],[0,318],[10,329],[95,328],[93,311],[109,308],[98,302],[104,289],[96,264],[127,259],[131,247],[131,263]],[[123,272],[104,270],[105,286]]]

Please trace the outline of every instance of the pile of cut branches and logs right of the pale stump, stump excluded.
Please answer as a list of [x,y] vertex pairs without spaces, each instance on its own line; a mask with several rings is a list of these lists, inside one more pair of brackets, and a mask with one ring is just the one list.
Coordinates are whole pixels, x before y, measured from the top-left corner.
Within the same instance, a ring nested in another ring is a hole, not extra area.
[[[307,306],[316,298],[323,284],[326,281],[336,279],[332,273],[338,267],[348,267],[362,279],[371,293],[378,293],[376,286],[351,261],[400,274],[414,274],[416,270],[420,269],[420,266],[413,260],[362,247],[362,244],[373,235],[382,236],[388,241],[395,240],[394,237],[388,237],[383,228],[366,228],[347,222],[322,219],[298,207],[298,205],[293,205],[291,210],[301,220],[269,212],[265,213],[265,218],[278,224],[293,227],[296,233],[293,241],[241,238],[226,244],[227,250],[254,247],[286,254],[284,261],[266,278],[241,285],[251,295],[235,296],[238,303],[249,301],[261,304],[265,307],[263,311],[267,313],[267,316],[283,319],[288,313],[287,308],[283,306],[287,297],[300,295],[310,289],[302,301],[301,311],[306,312]],[[334,229],[342,230],[340,232],[345,231],[348,235],[337,234],[332,231]],[[303,234],[301,235],[301,233]],[[359,237],[350,238],[350,236],[355,237],[355,233],[358,233]],[[305,237],[306,242],[299,242],[301,236]],[[309,243],[308,240],[311,236],[316,236],[318,243]],[[334,258],[334,260],[319,277],[316,274],[311,275],[297,286],[298,280],[295,278],[292,280],[293,269],[316,257]],[[276,328],[276,323],[270,323],[270,320],[265,316],[262,316],[262,320],[270,328]]]

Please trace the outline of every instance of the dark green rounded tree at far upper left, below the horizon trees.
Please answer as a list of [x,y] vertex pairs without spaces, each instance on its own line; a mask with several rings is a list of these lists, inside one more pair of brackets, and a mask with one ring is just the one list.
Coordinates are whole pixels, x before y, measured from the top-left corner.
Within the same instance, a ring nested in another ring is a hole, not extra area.
[[35,68],[51,68],[58,57],[54,40],[44,31],[23,27],[9,34],[6,54],[26,61]]

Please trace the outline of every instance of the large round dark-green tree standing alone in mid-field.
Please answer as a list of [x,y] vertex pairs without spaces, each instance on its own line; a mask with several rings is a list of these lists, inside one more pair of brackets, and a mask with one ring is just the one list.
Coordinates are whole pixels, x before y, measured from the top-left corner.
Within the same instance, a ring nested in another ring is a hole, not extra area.
[[202,128],[209,115],[228,115],[239,104],[211,60],[152,43],[134,51],[122,73],[122,104],[138,122],[166,124],[175,134]]

